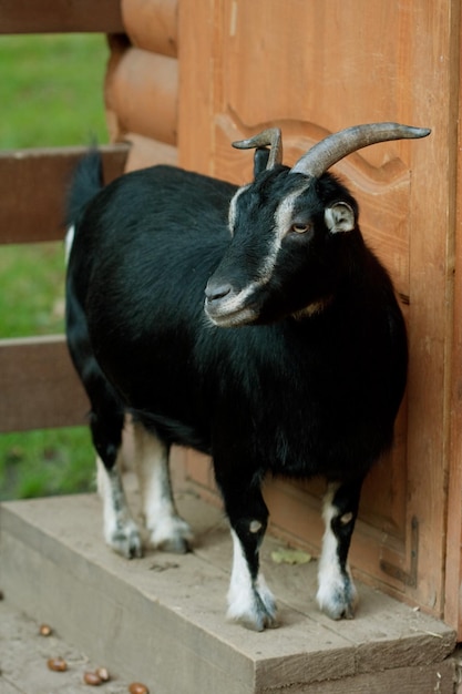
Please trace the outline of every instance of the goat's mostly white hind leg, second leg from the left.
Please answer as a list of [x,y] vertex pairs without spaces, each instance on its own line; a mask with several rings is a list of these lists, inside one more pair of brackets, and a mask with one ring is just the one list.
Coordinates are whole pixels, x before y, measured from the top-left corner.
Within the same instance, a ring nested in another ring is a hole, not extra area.
[[168,449],[140,422],[134,425],[133,431],[136,471],[151,544],[170,552],[187,552],[193,533],[175,508],[168,471]]

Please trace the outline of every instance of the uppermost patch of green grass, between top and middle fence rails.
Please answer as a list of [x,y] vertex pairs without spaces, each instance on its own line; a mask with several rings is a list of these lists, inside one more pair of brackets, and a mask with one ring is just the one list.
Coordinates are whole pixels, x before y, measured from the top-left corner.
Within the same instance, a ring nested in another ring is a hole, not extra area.
[[107,141],[100,34],[0,37],[0,149]]

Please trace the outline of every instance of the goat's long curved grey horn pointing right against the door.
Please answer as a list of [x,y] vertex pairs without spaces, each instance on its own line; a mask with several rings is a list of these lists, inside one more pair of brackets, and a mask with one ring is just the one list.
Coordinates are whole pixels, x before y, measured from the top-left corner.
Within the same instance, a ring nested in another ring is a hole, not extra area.
[[353,127],[347,127],[338,133],[333,133],[315,144],[298,160],[290,173],[302,173],[307,176],[318,177],[348,154],[370,144],[386,142],[387,140],[427,137],[430,133],[431,130],[428,127],[413,127],[412,125],[401,125],[400,123],[355,125]]

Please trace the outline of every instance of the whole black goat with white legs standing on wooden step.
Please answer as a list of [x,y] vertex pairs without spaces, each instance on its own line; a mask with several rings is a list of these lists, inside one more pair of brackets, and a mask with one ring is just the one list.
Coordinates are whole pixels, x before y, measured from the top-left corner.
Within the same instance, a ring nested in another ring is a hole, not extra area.
[[357,203],[326,171],[368,144],[429,132],[348,129],[290,170],[280,132],[265,131],[235,143],[257,147],[255,181],[239,188],[155,166],[101,190],[96,153],[76,172],[66,330],[91,401],[106,542],[142,553],[117,470],[130,414],[154,547],[183,552],[191,539],[171,445],[213,456],[234,541],[228,615],[254,629],[276,615],[258,559],[268,472],[327,478],[318,602],[352,616],[347,555],[363,478],[392,441],[407,338]]

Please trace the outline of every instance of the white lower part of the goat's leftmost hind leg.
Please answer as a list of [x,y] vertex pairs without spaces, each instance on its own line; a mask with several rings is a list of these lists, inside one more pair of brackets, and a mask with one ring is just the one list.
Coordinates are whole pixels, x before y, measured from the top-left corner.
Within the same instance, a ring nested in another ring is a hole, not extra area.
[[120,453],[112,470],[106,470],[103,461],[96,458],[97,491],[103,500],[104,539],[119,554],[131,559],[142,557],[143,550],[122,486],[119,457]]

